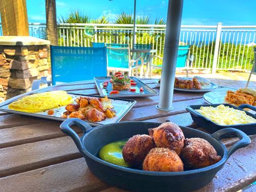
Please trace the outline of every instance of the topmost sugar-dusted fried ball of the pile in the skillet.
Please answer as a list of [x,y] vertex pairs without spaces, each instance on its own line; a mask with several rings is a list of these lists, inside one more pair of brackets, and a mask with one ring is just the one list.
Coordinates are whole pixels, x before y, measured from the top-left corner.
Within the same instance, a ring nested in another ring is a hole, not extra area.
[[169,148],[180,155],[185,137],[180,127],[172,122],[165,122],[154,129],[148,129],[157,147]]

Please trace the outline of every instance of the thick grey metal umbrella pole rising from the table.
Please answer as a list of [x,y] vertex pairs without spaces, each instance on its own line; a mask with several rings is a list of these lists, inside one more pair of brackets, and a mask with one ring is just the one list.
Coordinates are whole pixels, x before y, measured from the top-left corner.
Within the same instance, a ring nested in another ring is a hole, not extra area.
[[179,47],[182,7],[183,0],[169,0],[163,52],[160,98],[159,103],[156,106],[157,109],[163,111],[173,110],[172,102]]

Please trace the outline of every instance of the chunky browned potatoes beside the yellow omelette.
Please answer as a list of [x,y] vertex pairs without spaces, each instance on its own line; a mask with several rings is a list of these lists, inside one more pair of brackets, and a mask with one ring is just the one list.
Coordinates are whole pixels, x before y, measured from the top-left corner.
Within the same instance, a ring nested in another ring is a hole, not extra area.
[[113,118],[116,112],[113,109],[111,99],[108,97],[79,97],[76,104],[66,105],[66,112],[62,118],[78,118],[90,122],[100,122],[106,118]]

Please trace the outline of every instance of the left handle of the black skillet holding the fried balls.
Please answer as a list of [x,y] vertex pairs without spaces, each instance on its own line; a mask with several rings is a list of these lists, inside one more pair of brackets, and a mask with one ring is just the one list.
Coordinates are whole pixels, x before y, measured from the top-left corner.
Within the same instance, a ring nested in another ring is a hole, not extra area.
[[91,127],[87,122],[84,122],[83,120],[78,118],[69,118],[63,121],[59,126],[60,130],[63,133],[70,136],[74,140],[78,150],[81,153],[83,153],[83,150],[84,150],[83,143],[81,141],[81,138],[77,135],[77,133],[70,127],[72,125],[77,125],[82,130],[83,134],[86,132],[90,132],[93,129],[93,127]]

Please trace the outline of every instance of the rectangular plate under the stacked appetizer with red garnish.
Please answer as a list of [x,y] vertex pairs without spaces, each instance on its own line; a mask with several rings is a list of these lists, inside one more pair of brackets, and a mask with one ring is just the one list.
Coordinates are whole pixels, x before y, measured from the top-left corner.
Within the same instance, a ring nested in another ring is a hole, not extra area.
[[[119,91],[119,94],[112,94],[110,95],[110,92],[112,90],[112,84],[109,83],[108,87],[103,88],[103,82],[105,81],[110,81],[111,77],[94,77],[96,87],[99,91],[99,94],[101,96],[111,96],[111,97],[150,97],[150,96],[155,96],[158,95],[158,93],[148,87],[145,83],[143,83],[141,80],[137,79],[136,77],[130,77],[130,79],[134,80],[136,82],[136,86],[131,86],[132,89],[136,89],[136,91],[130,91],[130,90],[122,90]],[[140,92],[140,88],[143,88],[143,92]]]

